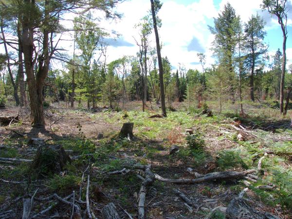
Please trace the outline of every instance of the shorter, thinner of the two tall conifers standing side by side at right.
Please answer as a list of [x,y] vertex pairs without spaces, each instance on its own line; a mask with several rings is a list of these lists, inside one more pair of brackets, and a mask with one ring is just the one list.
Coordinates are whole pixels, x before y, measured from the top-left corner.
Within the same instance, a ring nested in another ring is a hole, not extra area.
[[264,31],[265,22],[259,15],[252,15],[249,21],[245,24],[245,49],[246,65],[251,70],[250,74],[250,98],[255,101],[254,94],[254,74],[255,68],[262,64],[263,55],[267,52],[263,40],[266,35]]

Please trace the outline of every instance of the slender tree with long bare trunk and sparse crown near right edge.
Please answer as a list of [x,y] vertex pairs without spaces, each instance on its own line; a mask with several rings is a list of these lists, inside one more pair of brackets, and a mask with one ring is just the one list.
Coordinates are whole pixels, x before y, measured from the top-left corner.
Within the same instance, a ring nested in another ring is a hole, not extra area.
[[283,60],[282,60],[282,73],[281,73],[281,83],[280,83],[280,112],[284,113],[284,79],[286,71],[286,42],[288,37],[287,31],[287,14],[288,6],[286,5],[287,0],[263,0],[261,5],[262,9],[268,10],[272,15],[278,18],[278,23],[281,26],[283,34]]

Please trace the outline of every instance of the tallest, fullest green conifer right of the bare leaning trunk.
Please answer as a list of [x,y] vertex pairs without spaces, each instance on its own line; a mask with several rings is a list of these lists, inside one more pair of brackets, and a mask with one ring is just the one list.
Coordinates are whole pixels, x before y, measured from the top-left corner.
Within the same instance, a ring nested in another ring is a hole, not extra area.
[[232,102],[235,101],[234,89],[234,55],[237,45],[237,30],[239,25],[239,18],[235,13],[234,8],[228,2],[218,18],[214,18],[214,27],[209,29],[215,35],[213,41],[213,51],[219,59],[219,63],[226,66],[229,74],[229,95]]

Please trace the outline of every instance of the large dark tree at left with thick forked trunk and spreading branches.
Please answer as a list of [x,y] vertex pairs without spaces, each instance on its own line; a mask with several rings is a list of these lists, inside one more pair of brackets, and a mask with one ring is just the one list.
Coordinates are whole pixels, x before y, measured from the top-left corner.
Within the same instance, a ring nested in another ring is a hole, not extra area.
[[[52,58],[60,59],[61,36],[57,33],[66,31],[60,20],[66,13],[80,13],[80,10],[98,9],[104,11],[107,18],[116,13],[112,8],[122,0],[7,0],[4,8],[11,8],[11,17],[19,18],[22,27],[21,44],[23,49],[25,73],[28,84],[33,126],[44,127],[43,88],[50,69]],[[78,10],[80,9],[80,10]],[[56,37],[59,37],[56,39]]]

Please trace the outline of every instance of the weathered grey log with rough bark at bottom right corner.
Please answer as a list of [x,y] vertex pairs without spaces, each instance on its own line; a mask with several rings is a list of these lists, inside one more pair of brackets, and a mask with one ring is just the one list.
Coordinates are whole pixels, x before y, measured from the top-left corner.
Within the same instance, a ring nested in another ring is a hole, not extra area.
[[279,219],[268,212],[253,209],[246,201],[234,198],[226,209],[226,219]]

